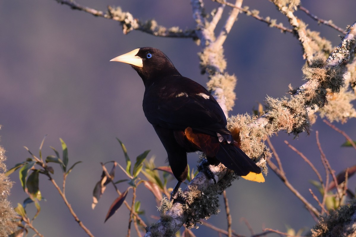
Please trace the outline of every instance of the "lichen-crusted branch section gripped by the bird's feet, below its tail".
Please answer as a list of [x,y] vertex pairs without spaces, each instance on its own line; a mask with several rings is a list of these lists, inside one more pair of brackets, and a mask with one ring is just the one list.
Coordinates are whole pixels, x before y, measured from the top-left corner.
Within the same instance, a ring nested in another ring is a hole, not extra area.
[[[213,185],[212,179],[204,172],[199,172],[184,191],[179,189],[180,195],[186,197],[191,206],[163,199],[159,208],[162,213],[161,219],[147,228],[145,237],[174,236],[184,223],[188,228],[197,227],[196,224],[201,219],[209,218],[220,211],[218,196],[231,185],[236,176],[231,171],[228,172],[222,164],[209,168],[214,173],[216,181],[219,180],[218,183]],[[229,175],[226,175],[227,172]]]

